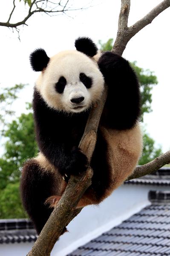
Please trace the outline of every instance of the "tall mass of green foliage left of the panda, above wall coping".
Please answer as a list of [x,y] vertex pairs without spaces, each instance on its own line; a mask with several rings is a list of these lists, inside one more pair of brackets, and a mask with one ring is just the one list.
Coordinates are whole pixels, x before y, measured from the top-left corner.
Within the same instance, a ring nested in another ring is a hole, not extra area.
[[23,162],[38,152],[32,112],[9,123],[3,137],[6,143],[0,158],[0,218],[24,218],[19,196],[20,170]]

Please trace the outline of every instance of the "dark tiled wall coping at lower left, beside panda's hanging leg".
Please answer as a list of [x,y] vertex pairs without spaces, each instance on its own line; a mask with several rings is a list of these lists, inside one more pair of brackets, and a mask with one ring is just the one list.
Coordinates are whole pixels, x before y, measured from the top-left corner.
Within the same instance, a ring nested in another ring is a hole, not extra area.
[[0,244],[31,242],[37,239],[32,222],[27,219],[0,219]]

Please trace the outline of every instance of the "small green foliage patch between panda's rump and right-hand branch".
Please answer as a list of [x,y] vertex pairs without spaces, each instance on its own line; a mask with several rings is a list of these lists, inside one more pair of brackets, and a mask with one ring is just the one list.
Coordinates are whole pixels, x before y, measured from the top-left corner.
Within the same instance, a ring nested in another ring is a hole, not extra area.
[[150,161],[154,160],[156,157],[162,154],[161,147],[156,148],[155,141],[147,133],[144,134],[143,140],[144,140],[144,149],[143,149],[142,157],[139,161],[140,165],[149,163]]

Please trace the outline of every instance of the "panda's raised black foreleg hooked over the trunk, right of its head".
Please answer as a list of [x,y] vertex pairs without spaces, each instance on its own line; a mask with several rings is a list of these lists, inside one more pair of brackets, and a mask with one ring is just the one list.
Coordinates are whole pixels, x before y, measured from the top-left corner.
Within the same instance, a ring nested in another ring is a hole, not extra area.
[[140,90],[133,68],[113,52],[104,52],[98,66],[108,85],[104,125],[119,130],[132,128],[140,116]]

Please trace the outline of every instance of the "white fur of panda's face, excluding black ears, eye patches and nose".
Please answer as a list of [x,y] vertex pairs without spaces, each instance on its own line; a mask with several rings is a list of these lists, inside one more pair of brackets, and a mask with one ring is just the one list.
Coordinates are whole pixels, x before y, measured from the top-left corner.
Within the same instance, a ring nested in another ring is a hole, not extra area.
[[[92,87],[87,89],[80,81],[80,73],[92,78]],[[64,76],[67,84],[63,93],[55,90],[55,84]],[[96,102],[104,89],[104,78],[94,58],[91,59],[77,50],[63,51],[50,58],[36,82],[37,90],[51,108],[66,112],[81,112]],[[84,101],[75,104],[70,100],[84,97]],[[75,108],[80,106],[81,108]]]

